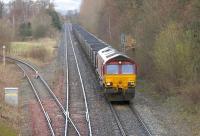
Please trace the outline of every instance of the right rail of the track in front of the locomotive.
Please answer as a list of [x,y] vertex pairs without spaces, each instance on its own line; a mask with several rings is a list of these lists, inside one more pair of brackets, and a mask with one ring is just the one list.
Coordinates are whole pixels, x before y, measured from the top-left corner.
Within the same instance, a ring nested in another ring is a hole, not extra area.
[[135,107],[129,106],[129,108],[132,110],[132,112],[135,114],[137,120],[142,124],[142,127],[144,128],[145,132],[148,136],[153,136],[145,122],[143,121],[142,117],[140,116],[139,112],[135,109]]

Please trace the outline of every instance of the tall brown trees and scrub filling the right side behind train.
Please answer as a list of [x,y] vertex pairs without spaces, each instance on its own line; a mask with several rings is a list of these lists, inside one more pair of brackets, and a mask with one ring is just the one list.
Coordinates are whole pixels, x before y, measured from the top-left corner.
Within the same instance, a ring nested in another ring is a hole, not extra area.
[[84,0],[79,20],[116,48],[121,32],[131,35],[136,47],[127,53],[138,63],[145,92],[171,100],[187,113],[181,119],[193,120],[200,114],[199,13],[199,0]]

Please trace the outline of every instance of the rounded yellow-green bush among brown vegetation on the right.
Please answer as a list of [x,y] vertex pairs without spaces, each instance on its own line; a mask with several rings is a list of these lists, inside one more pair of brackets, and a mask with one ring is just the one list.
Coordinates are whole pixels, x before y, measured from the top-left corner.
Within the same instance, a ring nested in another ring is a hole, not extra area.
[[170,23],[157,37],[154,47],[156,77],[181,85],[192,79],[191,45],[176,23]]

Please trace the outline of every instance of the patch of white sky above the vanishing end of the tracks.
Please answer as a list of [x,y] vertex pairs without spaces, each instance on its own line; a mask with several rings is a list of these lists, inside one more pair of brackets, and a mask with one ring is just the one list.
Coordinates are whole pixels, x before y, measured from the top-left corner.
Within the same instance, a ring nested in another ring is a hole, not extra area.
[[[9,2],[12,0],[2,0],[4,2]],[[36,1],[36,0],[33,0]],[[55,4],[55,9],[58,12],[66,13],[68,10],[79,10],[81,5],[81,0],[51,0]]]

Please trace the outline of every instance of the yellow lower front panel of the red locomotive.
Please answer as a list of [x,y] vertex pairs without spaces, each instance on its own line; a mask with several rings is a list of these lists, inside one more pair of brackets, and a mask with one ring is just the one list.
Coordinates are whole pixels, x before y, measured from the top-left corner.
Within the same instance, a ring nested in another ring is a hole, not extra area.
[[116,90],[121,88],[122,90],[128,89],[128,82],[134,82],[136,85],[136,75],[135,74],[119,74],[119,75],[104,75],[103,82],[106,87],[109,87],[106,85],[106,83],[112,83],[112,86]]

